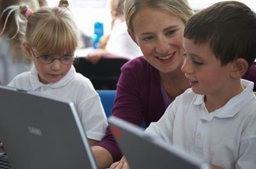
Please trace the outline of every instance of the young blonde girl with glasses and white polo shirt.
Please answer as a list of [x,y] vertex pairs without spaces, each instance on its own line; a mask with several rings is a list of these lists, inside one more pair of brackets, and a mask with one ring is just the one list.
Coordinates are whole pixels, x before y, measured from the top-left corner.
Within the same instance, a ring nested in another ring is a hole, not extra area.
[[[8,86],[72,100],[91,145],[100,141],[107,126],[99,95],[90,80],[76,73],[74,51],[78,44],[77,28],[65,6],[40,8],[32,12],[26,5],[11,6],[20,17],[27,19],[24,51],[33,61],[30,72],[17,75]],[[19,29],[19,27],[17,27]]]

